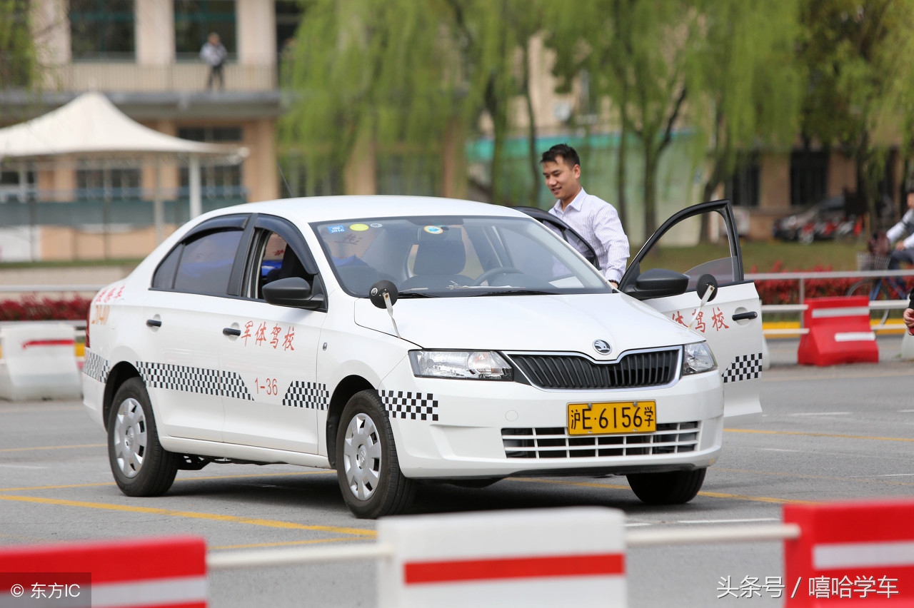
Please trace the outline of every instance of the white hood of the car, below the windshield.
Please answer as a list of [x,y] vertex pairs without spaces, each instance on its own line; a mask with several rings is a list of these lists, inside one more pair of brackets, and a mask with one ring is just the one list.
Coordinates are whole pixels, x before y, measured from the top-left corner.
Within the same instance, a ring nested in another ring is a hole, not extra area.
[[[356,324],[396,335],[387,310],[368,299],[354,308]],[[621,293],[399,299],[393,311],[400,337],[429,349],[578,351],[611,361],[622,351],[700,340]],[[596,340],[611,352],[594,350]]]

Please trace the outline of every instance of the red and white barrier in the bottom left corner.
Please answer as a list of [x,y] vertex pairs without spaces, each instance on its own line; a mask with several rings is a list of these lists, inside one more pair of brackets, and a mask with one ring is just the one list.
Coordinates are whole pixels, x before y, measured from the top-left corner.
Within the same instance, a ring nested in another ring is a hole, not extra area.
[[4,547],[0,605],[206,608],[206,557],[196,537]]

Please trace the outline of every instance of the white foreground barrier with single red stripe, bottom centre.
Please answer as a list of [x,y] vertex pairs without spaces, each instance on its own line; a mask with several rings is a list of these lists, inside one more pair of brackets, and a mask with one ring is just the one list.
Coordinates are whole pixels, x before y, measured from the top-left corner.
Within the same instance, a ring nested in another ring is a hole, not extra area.
[[380,608],[626,605],[625,516],[552,508],[380,519]]

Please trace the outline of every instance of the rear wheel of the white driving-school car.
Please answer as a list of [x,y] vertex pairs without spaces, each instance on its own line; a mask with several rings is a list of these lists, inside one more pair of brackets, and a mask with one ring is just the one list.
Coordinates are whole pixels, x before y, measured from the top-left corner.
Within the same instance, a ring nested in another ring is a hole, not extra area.
[[139,378],[123,383],[108,417],[108,460],[127,496],[161,496],[175,481],[179,455],[159,443],[149,393]]

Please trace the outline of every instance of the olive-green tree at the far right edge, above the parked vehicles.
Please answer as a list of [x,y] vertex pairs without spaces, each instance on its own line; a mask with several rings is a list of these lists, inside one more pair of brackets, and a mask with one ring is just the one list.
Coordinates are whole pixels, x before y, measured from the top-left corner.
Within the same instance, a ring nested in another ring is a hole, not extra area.
[[914,2],[804,0],[801,23],[800,58],[810,75],[803,139],[838,146],[854,159],[856,194],[865,197],[874,224],[885,172],[885,148],[874,136],[911,123]]

